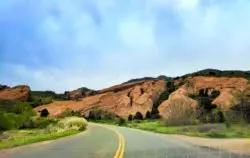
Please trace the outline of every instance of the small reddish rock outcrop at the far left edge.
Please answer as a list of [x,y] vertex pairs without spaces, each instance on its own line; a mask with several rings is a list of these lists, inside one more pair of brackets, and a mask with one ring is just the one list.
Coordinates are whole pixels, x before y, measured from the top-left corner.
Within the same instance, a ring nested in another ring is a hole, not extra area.
[[0,90],[0,99],[27,101],[29,99],[30,87],[19,85],[12,88],[5,87]]

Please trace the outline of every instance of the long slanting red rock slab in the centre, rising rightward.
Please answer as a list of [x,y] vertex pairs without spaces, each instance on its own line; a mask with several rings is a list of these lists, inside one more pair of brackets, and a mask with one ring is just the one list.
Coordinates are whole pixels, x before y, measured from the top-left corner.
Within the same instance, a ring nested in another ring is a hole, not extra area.
[[57,116],[70,108],[88,115],[93,107],[99,107],[118,116],[127,117],[141,112],[144,116],[152,110],[154,101],[165,91],[166,81],[143,81],[118,85],[104,89],[100,94],[83,98],[80,101],[60,101],[37,107],[37,111],[47,108],[51,115]]

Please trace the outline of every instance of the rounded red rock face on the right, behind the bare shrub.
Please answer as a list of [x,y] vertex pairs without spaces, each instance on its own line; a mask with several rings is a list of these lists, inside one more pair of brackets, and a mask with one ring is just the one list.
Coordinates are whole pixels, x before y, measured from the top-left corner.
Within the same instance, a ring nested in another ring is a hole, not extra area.
[[227,78],[227,77],[189,77],[185,80],[175,82],[181,86],[173,92],[169,99],[164,101],[158,108],[161,115],[164,115],[165,107],[175,102],[177,99],[185,100],[186,106],[197,106],[198,103],[190,98],[190,95],[199,95],[200,90],[207,89],[208,94],[216,90],[220,95],[214,99],[212,104],[216,104],[222,109],[228,109],[238,103],[236,94],[244,91],[249,86],[249,81],[244,78]]

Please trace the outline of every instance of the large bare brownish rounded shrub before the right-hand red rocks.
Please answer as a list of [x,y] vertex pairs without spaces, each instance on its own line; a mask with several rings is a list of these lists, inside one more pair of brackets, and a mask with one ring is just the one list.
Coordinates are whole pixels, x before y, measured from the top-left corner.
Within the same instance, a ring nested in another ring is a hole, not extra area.
[[175,100],[168,105],[163,115],[163,122],[165,125],[190,125],[195,120],[195,111],[191,106],[184,103],[183,100]]

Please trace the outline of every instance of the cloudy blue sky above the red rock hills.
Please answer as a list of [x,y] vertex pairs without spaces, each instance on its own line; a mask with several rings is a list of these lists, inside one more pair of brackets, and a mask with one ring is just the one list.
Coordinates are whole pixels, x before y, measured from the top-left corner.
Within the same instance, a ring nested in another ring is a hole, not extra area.
[[64,92],[250,70],[249,0],[1,0],[0,84]]

